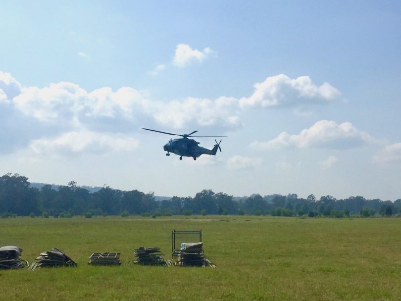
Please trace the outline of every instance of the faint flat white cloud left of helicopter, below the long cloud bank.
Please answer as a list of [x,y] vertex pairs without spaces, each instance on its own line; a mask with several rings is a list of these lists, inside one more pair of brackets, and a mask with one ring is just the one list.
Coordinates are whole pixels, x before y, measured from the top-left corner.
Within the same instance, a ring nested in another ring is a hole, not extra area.
[[105,134],[87,130],[63,133],[55,138],[32,141],[30,148],[38,154],[77,155],[85,151],[104,153],[108,151],[132,151],[139,145],[138,140],[121,134]]

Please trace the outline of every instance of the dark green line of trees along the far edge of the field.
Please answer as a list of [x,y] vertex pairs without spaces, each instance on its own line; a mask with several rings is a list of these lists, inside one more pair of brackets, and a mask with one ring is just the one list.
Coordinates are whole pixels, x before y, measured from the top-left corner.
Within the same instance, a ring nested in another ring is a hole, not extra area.
[[0,216],[54,216],[71,217],[83,215],[191,215],[191,214],[251,214],[274,216],[331,216],[358,215],[399,216],[401,199],[382,201],[366,200],[361,196],[337,200],[332,196],[306,199],[296,194],[235,198],[225,193],[202,190],[192,197],[174,196],[156,201],[153,193],[138,190],[122,191],[103,186],[90,193],[71,181],[53,189],[45,185],[41,189],[30,186],[27,177],[7,173],[0,177]]

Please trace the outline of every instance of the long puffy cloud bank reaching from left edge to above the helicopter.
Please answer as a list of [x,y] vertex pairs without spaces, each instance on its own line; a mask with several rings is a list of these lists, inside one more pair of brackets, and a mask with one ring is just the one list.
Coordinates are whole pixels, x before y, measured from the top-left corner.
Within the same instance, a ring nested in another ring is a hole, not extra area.
[[[104,133],[128,135],[144,125],[174,130],[209,127],[223,134],[243,126],[241,116],[246,107],[241,106],[240,99],[226,96],[152,100],[130,87],[116,91],[109,87],[86,91],[70,82],[51,83],[43,88],[23,87],[9,73],[0,72],[0,132],[3,138],[0,152],[26,147],[33,140],[37,150],[46,147],[68,149],[68,144],[61,143],[62,140],[49,137],[61,139],[63,134],[82,131],[96,132],[100,136]],[[89,146],[83,148],[89,149]]]

